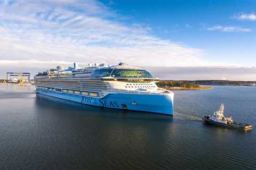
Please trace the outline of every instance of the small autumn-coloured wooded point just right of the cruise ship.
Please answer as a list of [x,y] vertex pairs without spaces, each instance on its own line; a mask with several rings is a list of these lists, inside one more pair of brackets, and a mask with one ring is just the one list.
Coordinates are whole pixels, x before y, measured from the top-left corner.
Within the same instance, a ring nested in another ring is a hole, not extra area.
[[189,83],[176,80],[161,80],[156,83],[158,87],[182,87],[182,88],[199,88],[200,86],[195,83]]

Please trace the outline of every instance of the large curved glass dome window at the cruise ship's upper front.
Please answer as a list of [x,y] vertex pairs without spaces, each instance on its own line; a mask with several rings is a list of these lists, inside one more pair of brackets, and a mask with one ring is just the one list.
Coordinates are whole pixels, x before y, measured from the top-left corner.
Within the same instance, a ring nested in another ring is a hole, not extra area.
[[153,78],[148,71],[137,69],[115,69],[110,76],[114,78]]

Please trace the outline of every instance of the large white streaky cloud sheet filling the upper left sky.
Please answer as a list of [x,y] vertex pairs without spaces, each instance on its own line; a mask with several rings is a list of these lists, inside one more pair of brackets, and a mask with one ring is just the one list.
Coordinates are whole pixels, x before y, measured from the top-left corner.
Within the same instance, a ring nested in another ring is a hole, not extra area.
[[205,61],[203,49],[151,35],[148,25],[126,24],[98,1],[0,2],[0,18],[0,65],[220,64]]

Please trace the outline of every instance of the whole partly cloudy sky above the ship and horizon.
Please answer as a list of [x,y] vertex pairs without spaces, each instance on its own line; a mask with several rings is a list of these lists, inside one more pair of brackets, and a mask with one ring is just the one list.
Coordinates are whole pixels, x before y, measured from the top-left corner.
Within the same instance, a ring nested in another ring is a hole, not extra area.
[[256,80],[256,1],[1,1],[0,78],[73,62]]

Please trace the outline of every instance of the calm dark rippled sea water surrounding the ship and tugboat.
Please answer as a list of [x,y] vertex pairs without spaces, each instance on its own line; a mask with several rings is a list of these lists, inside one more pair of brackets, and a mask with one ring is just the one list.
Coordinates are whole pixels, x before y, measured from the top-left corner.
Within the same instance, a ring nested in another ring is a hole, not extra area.
[[256,128],[206,125],[226,114],[256,125],[256,88],[175,91],[175,114],[124,112],[0,85],[0,169],[255,169]]

